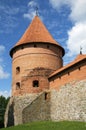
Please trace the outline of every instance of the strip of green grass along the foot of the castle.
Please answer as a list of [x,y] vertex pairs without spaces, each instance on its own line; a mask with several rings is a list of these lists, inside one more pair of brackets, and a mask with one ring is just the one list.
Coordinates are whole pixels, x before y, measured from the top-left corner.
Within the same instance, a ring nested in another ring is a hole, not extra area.
[[18,125],[1,130],[86,130],[86,122],[33,122],[24,125]]

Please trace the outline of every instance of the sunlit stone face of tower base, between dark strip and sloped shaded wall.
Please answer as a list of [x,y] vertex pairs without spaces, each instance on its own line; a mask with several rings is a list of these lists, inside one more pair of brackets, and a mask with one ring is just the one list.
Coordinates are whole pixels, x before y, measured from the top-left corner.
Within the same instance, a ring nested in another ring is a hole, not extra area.
[[28,94],[14,97],[14,125],[23,123],[23,110],[36,100],[38,96],[38,94]]

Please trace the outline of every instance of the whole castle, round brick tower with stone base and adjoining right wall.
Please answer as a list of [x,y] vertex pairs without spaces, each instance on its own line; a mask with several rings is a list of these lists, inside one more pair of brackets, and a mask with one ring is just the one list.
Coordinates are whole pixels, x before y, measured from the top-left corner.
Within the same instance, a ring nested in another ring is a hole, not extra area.
[[63,66],[64,53],[35,16],[10,51],[12,97],[5,127],[43,120],[86,121],[86,55]]

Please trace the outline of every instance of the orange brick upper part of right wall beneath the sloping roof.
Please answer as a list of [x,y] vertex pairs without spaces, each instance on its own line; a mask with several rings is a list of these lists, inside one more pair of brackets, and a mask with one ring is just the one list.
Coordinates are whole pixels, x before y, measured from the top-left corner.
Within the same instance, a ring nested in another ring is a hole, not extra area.
[[58,90],[62,85],[71,81],[80,81],[82,79],[86,79],[86,60],[50,77],[50,89]]

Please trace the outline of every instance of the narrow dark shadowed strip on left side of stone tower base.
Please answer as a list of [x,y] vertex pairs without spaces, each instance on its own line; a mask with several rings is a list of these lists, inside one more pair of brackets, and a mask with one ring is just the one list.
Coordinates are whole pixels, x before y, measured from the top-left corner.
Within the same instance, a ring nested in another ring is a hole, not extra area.
[[7,127],[14,126],[14,103],[9,106]]

